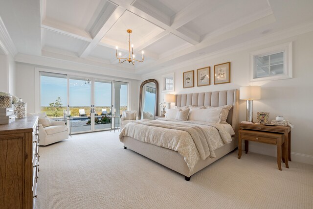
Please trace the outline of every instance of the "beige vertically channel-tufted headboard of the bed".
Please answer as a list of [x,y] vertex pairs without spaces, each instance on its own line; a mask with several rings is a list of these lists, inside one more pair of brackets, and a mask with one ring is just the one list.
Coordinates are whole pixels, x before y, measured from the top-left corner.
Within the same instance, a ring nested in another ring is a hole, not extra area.
[[214,107],[233,105],[227,116],[227,123],[234,130],[237,130],[239,119],[239,91],[237,89],[220,92],[177,94],[175,105],[179,107],[187,105],[209,105]]

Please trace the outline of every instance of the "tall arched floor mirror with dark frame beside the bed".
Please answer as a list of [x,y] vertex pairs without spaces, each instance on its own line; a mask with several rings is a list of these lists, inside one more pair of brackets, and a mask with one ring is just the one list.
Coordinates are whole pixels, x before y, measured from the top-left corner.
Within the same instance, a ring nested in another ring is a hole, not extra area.
[[149,79],[140,85],[139,119],[154,120],[157,113],[158,83]]

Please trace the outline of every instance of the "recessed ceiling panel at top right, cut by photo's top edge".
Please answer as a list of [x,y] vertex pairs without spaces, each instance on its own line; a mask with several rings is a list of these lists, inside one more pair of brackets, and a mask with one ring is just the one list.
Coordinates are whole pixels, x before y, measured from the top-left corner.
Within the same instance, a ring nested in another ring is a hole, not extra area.
[[202,36],[224,28],[241,20],[254,21],[252,16],[270,9],[267,0],[221,0],[218,8],[208,8],[208,12],[185,24],[189,30]]

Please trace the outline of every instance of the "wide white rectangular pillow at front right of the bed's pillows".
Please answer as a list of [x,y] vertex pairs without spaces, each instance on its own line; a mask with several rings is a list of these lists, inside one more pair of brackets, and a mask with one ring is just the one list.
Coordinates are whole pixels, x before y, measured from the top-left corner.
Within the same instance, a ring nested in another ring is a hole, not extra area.
[[216,123],[220,119],[222,108],[190,109],[188,120]]

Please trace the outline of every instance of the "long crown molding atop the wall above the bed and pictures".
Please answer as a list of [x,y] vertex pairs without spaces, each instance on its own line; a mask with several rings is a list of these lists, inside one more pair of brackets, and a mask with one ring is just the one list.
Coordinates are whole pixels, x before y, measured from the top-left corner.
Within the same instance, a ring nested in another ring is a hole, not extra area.
[[221,56],[224,56],[227,54],[235,53],[238,51],[243,51],[243,50],[246,50],[249,48],[262,46],[262,45],[270,44],[270,43],[277,42],[277,41],[283,41],[284,39],[288,39],[288,38],[291,38],[291,37],[294,37],[297,35],[301,35],[301,34],[305,34],[308,32],[312,32],[312,31],[313,31],[313,22],[303,23],[303,24],[297,25],[295,27],[291,27],[291,28],[287,28],[285,30],[274,32],[274,33],[265,35],[263,37],[249,40],[247,42],[244,42],[244,43],[241,43],[241,44],[238,44],[235,46],[230,46],[230,47],[221,49],[219,51],[204,54],[202,56],[199,56],[199,57],[196,57],[193,59],[189,59],[189,60],[186,60],[184,62],[180,62],[178,64],[170,65],[170,66],[167,66],[166,68],[161,69],[161,67],[158,67],[158,70],[155,70],[154,72],[140,73],[140,71],[142,71],[140,69],[140,71],[136,70],[135,73],[141,74],[141,76],[143,78],[146,78],[146,77],[151,77],[154,75],[173,72],[174,70],[177,70],[177,69],[184,67],[186,65],[193,65],[194,63],[199,62],[203,59],[212,59],[212,58],[216,58],[216,57],[221,57]]

